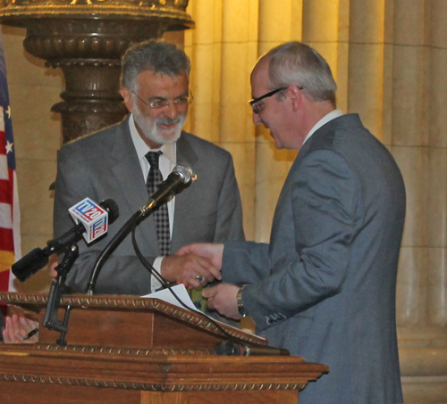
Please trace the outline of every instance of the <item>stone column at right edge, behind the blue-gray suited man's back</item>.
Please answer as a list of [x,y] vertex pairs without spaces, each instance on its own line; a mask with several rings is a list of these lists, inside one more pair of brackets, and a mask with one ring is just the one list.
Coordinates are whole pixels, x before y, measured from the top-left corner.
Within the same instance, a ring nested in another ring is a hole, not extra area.
[[447,4],[393,4],[392,153],[408,211],[398,278],[406,403],[447,401]]

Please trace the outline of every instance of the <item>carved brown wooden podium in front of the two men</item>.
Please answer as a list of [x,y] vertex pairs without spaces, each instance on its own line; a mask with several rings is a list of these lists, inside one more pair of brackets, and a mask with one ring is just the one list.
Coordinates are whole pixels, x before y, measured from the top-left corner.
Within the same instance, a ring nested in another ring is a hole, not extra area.
[[[42,322],[47,294],[0,293],[0,301],[38,311]],[[67,306],[66,345],[42,324],[36,344],[0,344],[2,404],[296,404],[299,390],[328,371],[299,357],[215,356],[227,336],[205,317],[156,299],[67,295],[61,317]]]

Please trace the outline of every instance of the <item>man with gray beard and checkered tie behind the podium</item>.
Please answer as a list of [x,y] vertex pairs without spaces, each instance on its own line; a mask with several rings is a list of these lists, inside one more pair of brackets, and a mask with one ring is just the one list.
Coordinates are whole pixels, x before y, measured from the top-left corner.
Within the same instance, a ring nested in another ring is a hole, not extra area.
[[[176,164],[188,165],[198,179],[137,227],[137,241],[146,259],[167,281],[199,289],[220,279],[220,271],[194,253],[171,253],[189,243],[244,239],[232,156],[182,131],[192,102],[189,76],[190,60],[175,45],[148,41],[132,46],[122,59],[121,90],[130,114],[117,125],[61,148],[55,237],[73,226],[68,209],[85,197],[95,202],[112,198],[120,208],[108,236],[89,246],[80,242],[80,257],[67,277],[75,290],[86,292],[98,254],[147,202],[148,177],[156,176],[158,183]],[[158,220],[164,220],[164,225],[157,228]],[[127,237],[105,262],[96,293],[143,295],[160,286],[139,262]]]

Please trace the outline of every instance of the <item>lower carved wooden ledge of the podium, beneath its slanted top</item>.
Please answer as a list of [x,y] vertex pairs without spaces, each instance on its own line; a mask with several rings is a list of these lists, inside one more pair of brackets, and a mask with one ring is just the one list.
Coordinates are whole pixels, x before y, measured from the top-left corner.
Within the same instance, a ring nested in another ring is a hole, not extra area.
[[299,357],[129,352],[7,344],[0,347],[0,380],[152,392],[300,390],[328,370]]

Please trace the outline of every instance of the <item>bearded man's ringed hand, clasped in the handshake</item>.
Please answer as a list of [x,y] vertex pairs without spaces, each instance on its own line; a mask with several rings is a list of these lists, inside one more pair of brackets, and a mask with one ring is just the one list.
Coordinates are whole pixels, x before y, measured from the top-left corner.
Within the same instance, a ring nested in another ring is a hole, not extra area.
[[222,279],[220,270],[210,260],[192,252],[164,257],[161,274],[167,281],[185,284],[190,289],[200,289],[208,282]]

